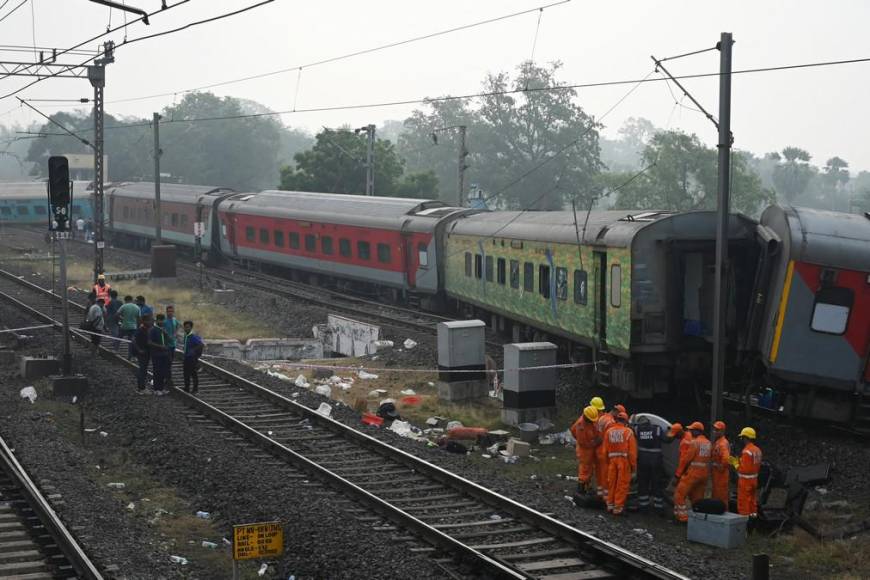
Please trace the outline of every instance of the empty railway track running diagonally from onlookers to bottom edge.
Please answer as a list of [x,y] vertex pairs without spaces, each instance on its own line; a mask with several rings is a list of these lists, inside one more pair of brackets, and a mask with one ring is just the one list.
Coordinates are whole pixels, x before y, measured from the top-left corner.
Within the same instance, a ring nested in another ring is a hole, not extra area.
[[[59,297],[3,271],[0,297],[56,322],[49,312]],[[685,578],[220,366],[202,363],[196,395],[172,395],[192,420],[231,430],[379,514],[390,522],[381,529],[395,528],[399,540],[424,543],[410,549],[449,555],[465,570],[541,580]]]

